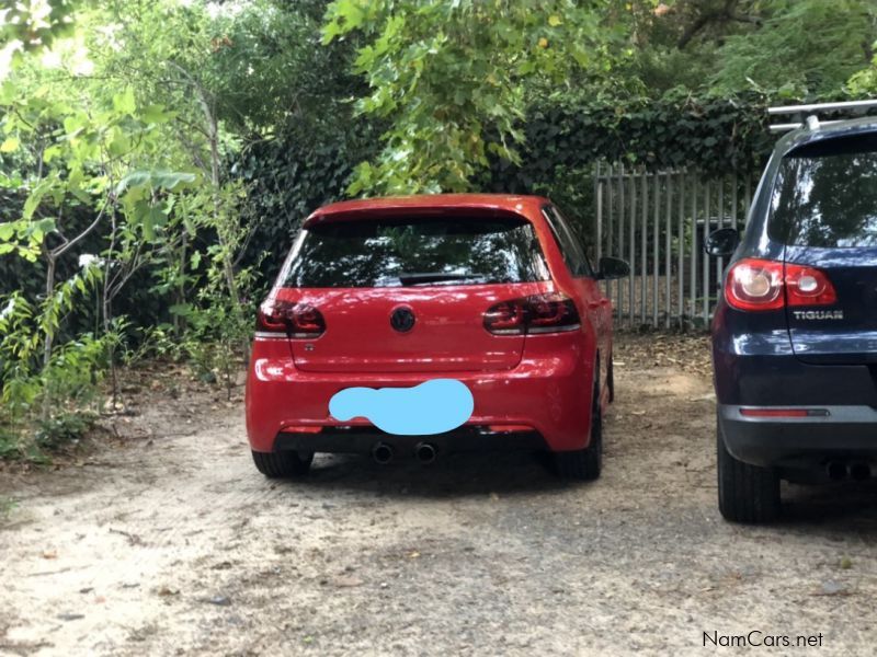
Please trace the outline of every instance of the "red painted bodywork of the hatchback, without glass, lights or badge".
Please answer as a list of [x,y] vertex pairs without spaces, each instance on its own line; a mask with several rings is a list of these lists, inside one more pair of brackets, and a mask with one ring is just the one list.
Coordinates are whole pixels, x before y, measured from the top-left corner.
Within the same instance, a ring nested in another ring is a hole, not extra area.
[[[319,309],[326,331],[316,338],[257,334],[247,380],[247,430],[254,451],[270,452],[285,431],[371,426],[363,418],[339,423],[329,400],[351,387],[413,387],[453,377],[475,399],[467,424],[523,425],[554,451],[588,447],[594,367],[600,358],[601,404],[608,402],[606,364],[612,350],[612,306],[592,277],[573,277],[543,215],[546,198],[510,195],[435,195],[333,204],[308,217],[305,228],[394,212],[508,216],[528,220],[551,280],[501,285],[387,288],[283,288],[269,300]],[[289,260],[278,281],[284,280]],[[571,298],[581,326],[548,334],[494,335],[483,326],[492,304],[542,292]],[[398,306],[417,311],[409,333],[390,328]],[[597,356],[599,355],[599,356]]]

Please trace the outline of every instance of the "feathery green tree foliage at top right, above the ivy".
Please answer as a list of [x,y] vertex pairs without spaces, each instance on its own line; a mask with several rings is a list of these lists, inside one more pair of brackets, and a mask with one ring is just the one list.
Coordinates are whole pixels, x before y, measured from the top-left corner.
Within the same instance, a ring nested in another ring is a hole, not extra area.
[[[620,2],[620,0],[619,0]],[[625,2],[635,56],[619,72],[652,97],[671,89],[838,97],[874,55],[872,0]]]

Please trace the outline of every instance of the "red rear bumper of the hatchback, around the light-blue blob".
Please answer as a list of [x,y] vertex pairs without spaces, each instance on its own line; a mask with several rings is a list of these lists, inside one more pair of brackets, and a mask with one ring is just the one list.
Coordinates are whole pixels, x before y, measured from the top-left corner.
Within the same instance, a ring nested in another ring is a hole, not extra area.
[[[524,357],[510,370],[387,374],[304,372],[296,369],[288,344],[257,339],[247,380],[250,447],[261,452],[365,452],[383,439],[399,449],[406,449],[409,442],[413,448],[421,440],[440,449],[444,446],[447,451],[583,449],[590,440],[593,361],[572,334],[565,338],[566,348],[558,348],[557,336],[551,337],[528,337]],[[425,437],[392,436],[362,418],[341,423],[329,415],[329,400],[345,388],[410,388],[434,378],[457,379],[472,393],[472,415],[458,430]],[[533,430],[487,430],[502,425],[525,425]]]

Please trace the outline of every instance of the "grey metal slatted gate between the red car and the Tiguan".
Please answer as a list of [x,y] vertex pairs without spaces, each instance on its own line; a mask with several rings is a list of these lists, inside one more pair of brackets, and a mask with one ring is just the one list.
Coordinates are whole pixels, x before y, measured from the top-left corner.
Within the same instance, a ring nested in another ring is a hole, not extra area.
[[752,178],[622,164],[599,165],[594,185],[597,260],[630,265],[629,278],[604,283],[616,324],[707,326],[725,263],[706,256],[704,240],[718,228],[742,230]]

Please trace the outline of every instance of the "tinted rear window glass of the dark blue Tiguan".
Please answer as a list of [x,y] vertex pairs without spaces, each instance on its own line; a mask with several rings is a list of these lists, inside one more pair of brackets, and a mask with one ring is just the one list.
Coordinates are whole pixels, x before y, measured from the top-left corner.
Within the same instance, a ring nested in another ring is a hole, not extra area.
[[771,201],[771,235],[786,244],[877,246],[877,135],[794,151]]

